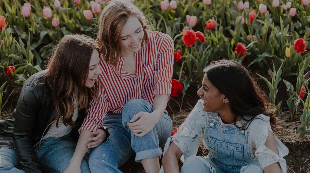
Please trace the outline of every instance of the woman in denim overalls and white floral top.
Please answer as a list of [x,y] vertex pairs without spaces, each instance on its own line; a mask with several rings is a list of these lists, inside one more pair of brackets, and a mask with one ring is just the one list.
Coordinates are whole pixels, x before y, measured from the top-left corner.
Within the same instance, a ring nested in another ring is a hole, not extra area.
[[[239,62],[215,61],[204,69],[196,106],[168,138],[165,172],[286,173],[287,147],[275,136],[270,102]],[[207,157],[196,156],[200,141]],[[161,170],[163,171],[163,170]]]

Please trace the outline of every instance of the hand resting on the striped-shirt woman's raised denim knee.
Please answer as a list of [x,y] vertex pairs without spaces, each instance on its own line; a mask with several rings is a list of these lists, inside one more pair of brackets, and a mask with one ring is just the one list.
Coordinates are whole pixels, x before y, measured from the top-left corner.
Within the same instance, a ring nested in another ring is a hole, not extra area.
[[139,112],[132,117],[131,123],[127,122],[127,126],[135,136],[143,137],[154,128],[159,119],[160,116],[154,112]]

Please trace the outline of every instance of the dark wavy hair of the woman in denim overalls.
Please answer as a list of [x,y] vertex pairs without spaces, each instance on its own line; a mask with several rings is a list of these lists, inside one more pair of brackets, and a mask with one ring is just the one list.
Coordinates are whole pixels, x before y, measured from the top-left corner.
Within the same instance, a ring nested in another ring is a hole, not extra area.
[[238,116],[248,121],[238,128],[247,129],[247,124],[250,124],[256,116],[264,114],[270,117],[272,130],[277,131],[277,118],[269,109],[271,103],[243,65],[237,61],[224,59],[207,65],[203,72],[219,92],[228,98],[236,127]]

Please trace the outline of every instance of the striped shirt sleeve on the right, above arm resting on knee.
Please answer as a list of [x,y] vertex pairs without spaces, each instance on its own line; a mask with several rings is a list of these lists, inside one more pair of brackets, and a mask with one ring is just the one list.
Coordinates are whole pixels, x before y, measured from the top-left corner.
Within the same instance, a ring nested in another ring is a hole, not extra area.
[[156,59],[156,66],[154,71],[154,76],[156,80],[154,96],[170,95],[171,93],[173,57],[173,40],[170,36],[166,35],[166,37],[163,38],[160,44],[158,57]]

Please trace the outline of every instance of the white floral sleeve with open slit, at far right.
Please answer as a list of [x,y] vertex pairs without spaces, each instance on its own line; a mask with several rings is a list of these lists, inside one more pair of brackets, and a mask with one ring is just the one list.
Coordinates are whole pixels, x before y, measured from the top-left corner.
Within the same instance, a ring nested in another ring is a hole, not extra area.
[[[254,155],[254,159],[259,160],[262,170],[268,165],[279,162],[282,172],[286,173],[286,161],[283,157],[289,153],[289,150],[272,132],[269,119],[268,116],[259,115],[249,125],[248,139],[253,151],[251,154]],[[272,132],[275,138],[279,155],[265,146],[268,130]]]

